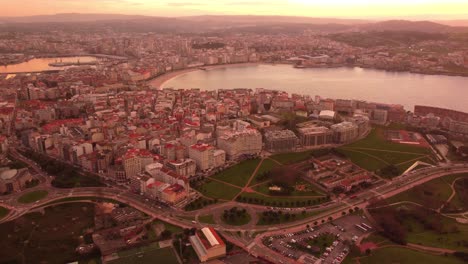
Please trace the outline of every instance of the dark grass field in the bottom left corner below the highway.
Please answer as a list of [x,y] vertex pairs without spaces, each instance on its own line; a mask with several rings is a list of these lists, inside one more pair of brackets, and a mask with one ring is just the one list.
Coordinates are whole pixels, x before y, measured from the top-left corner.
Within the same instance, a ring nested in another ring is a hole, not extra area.
[[[73,224],[71,224],[73,223]],[[0,225],[0,263],[68,263],[83,230],[94,226],[94,204],[70,203],[45,208]],[[24,243],[28,241],[28,243]]]

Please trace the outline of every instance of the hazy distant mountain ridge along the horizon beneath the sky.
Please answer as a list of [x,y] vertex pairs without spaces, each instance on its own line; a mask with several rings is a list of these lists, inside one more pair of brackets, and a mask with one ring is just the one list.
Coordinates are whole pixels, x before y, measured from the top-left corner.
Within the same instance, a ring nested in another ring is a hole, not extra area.
[[[311,29],[318,32],[337,31],[420,31],[428,33],[468,32],[468,27],[461,27],[462,21],[452,21],[450,26],[432,21],[409,20],[363,20],[340,18],[314,18],[293,16],[188,16],[188,17],[156,17],[143,15],[120,14],[81,14],[64,13],[56,15],[39,15],[27,17],[0,17],[0,26],[25,28],[26,24],[67,24],[87,23],[89,27],[114,26],[122,30],[142,31],[177,31],[202,32],[222,30],[244,30],[246,32],[261,32],[261,30]],[[467,21],[468,22],[468,21]],[[39,25],[40,24],[40,25]]]

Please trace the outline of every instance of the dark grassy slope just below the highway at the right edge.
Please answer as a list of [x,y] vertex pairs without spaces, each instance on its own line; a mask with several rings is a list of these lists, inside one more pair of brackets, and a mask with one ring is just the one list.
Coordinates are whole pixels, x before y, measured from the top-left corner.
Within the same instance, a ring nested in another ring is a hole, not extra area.
[[424,205],[427,208],[438,209],[452,194],[450,184],[457,178],[468,177],[468,174],[454,174],[426,182],[408,191],[387,199],[388,203],[409,201]]

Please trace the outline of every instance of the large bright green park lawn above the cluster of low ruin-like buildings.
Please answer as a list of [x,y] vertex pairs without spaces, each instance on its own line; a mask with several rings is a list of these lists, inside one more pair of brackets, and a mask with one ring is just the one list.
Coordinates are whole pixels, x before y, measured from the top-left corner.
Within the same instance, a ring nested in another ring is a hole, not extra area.
[[417,160],[431,163],[430,149],[394,143],[385,139],[385,128],[376,127],[364,139],[340,147],[339,152],[346,155],[356,165],[378,172],[389,165],[395,165],[404,172]]

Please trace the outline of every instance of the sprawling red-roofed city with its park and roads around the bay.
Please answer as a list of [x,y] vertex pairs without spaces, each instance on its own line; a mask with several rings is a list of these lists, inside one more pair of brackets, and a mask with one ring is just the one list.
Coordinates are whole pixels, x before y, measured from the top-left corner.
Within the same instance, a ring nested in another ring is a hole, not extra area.
[[372,211],[379,199],[467,172],[468,113],[267,87],[160,86],[184,70],[236,63],[466,74],[466,50],[431,52],[444,45],[421,41],[408,55],[310,32],[4,36],[4,64],[51,55],[96,63],[0,74],[0,222],[82,197],[96,202],[94,225],[76,252],[99,249],[105,263],[133,263],[125,258],[151,254],[155,241],[169,241],[156,247],[173,248],[176,263],[341,263],[385,221]]

